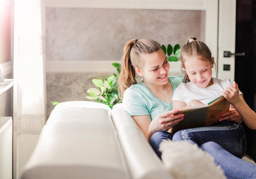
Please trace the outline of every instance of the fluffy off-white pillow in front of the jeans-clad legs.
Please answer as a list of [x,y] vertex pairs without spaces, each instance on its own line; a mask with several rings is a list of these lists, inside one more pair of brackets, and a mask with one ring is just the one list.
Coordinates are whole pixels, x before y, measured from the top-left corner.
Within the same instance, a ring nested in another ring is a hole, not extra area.
[[162,163],[175,179],[226,178],[213,157],[190,142],[164,140],[159,150],[162,151]]

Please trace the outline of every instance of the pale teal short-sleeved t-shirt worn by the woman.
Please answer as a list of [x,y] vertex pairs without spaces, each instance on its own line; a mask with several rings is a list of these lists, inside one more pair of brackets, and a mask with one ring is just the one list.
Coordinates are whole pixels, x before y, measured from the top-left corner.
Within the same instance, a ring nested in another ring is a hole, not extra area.
[[[183,82],[183,77],[169,77],[169,80],[174,91]],[[123,104],[130,116],[150,115],[151,120],[161,113],[172,110],[172,103],[156,98],[156,95],[150,92],[144,83],[134,84],[125,90]]]

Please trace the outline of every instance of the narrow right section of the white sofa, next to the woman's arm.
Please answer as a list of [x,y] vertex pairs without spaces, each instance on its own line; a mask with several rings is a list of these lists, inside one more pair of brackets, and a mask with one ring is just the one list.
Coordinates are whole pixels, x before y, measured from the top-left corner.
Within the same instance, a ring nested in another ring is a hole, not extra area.
[[123,104],[113,107],[112,120],[133,178],[172,178]]

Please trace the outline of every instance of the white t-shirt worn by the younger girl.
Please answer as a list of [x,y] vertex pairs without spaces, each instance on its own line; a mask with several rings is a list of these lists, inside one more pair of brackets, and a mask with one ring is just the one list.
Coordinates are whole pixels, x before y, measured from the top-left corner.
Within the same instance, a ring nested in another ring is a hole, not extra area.
[[[171,100],[183,101],[187,105],[189,101],[197,99],[204,104],[208,104],[210,101],[213,101],[222,95],[222,92],[224,92],[231,84],[232,83],[228,78],[225,80],[213,78],[213,84],[210,87],[198,88],[195,84],[189,81],[188,83],[182,83],[177,87]],[[240,94],[242,94],[242,92],[240,92]]]

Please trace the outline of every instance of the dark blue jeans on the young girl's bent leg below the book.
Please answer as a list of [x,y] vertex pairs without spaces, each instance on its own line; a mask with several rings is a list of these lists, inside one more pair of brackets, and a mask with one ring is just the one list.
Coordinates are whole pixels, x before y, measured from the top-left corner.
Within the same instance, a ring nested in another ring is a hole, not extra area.
[[216,125],[204,128],[190,128],[174,134],[173,141],[188,140],[198,146],[213,141],[221,145],[234,156],[242,158],[246,153],[246,134],[237,122],[218,122]]

